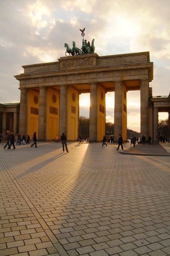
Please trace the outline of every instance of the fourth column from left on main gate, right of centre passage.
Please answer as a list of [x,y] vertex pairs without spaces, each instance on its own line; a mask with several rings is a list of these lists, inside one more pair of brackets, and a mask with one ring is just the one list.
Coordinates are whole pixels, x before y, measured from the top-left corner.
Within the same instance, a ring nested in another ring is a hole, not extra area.
[[89,123],[90,141],[97,140],[97,84],[90,84],[90,123]]

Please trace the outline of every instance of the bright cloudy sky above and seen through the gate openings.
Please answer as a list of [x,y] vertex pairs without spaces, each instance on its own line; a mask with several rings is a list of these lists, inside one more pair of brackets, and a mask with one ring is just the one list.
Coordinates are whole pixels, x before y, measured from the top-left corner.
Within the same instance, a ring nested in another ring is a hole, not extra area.
[[[150,52],[153,95],[170,92],[170,0],[0,0],[0,102],[19,102],[22,65],[53,62],[64,43],[81,46],[95,38],[99,55]],[[106,117],[114,121],[114,93],[106,95]],[[128,127],[140,131],[140,94],[128,92]],[[89,116],[89,94],[80,114]],[[159,114],[159,119],[168,114]]]

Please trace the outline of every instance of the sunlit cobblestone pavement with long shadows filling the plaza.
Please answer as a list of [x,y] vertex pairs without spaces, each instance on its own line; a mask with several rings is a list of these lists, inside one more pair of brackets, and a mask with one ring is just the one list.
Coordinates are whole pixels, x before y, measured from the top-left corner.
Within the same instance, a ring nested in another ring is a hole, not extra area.
[[169,157],[116,147],[0,145],[0,256],[170,255]]

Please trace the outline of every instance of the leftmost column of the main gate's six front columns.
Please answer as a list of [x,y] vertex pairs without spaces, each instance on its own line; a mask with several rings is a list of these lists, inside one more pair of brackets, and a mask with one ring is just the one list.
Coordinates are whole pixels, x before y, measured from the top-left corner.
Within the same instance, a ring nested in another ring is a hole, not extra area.
[[19,133],[21,137],[26,134],[27,127],[27,89],[20,89],[20,108],[19,108]]

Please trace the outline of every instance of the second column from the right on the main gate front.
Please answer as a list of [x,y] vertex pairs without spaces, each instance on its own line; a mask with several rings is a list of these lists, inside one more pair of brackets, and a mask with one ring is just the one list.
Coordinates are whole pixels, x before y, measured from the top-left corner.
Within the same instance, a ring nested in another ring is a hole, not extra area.
[[122,135],[122,81],[116,81],[114,90],[114,142]]

